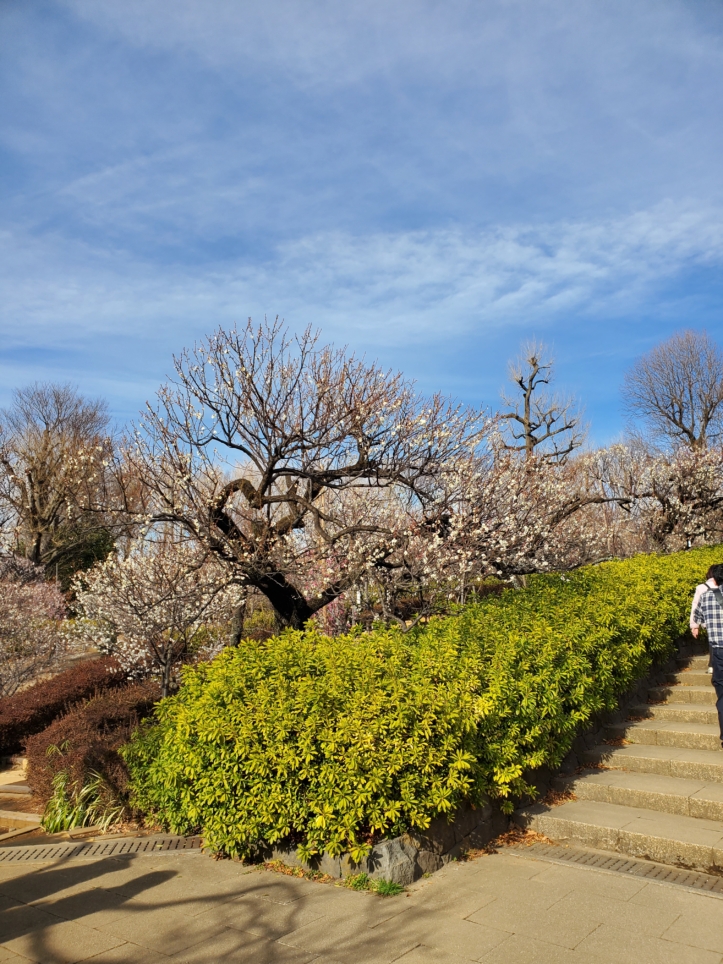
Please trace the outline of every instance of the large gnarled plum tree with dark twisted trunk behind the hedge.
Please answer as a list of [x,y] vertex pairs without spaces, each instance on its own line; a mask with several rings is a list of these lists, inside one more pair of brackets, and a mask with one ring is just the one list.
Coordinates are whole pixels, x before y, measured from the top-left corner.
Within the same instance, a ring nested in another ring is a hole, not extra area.
[[219,329],[175,360],[128,450],[149,522],[179,526],[280,626],[302,626],[393,558],[375,492],[439,513],[441,467],[482,431],[478,413],[317,342],[278,319]]

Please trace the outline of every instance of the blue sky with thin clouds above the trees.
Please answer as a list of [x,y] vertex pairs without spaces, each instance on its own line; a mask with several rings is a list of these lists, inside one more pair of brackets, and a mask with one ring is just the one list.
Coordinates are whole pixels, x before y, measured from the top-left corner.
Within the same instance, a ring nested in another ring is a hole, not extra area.
[[536,336],[604,443],[723,341],[718,0],[3,0],[0,95],[0,403],[279,314],[475,405]]

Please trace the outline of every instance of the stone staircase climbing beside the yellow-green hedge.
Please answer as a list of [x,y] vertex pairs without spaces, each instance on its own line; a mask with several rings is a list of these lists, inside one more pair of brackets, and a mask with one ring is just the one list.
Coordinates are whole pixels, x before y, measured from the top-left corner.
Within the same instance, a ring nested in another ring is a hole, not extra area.
[[589,769],[556,778],[569,794],[515,822],[560,843],[723,874],[723,750],[708,657],[679,659],[626,722],[588,750]]

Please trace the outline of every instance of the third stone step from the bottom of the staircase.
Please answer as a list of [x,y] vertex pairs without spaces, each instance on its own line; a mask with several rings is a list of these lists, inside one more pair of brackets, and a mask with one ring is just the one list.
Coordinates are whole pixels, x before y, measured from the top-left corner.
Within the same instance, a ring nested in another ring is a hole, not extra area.
[[723,783],[723,751],[696,750],[687,747],[653,746],[633,743],[630,746],[600,744],[587,750],[583,760],[588,765],[629,770],[635,773],[657,773],[662,776]]

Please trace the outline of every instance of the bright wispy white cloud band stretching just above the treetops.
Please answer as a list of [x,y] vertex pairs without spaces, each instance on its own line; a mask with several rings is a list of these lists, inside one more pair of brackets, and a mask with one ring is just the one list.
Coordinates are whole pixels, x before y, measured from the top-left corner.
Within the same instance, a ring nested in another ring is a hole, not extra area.
[[287,240],[269,258],[149,265],[46,235],[0,235],[4,343],[119,331],[165,341],[259,312],[351,342],[618,316],[692,266],[723,265],[723,211],[664,203],[605,221]]

